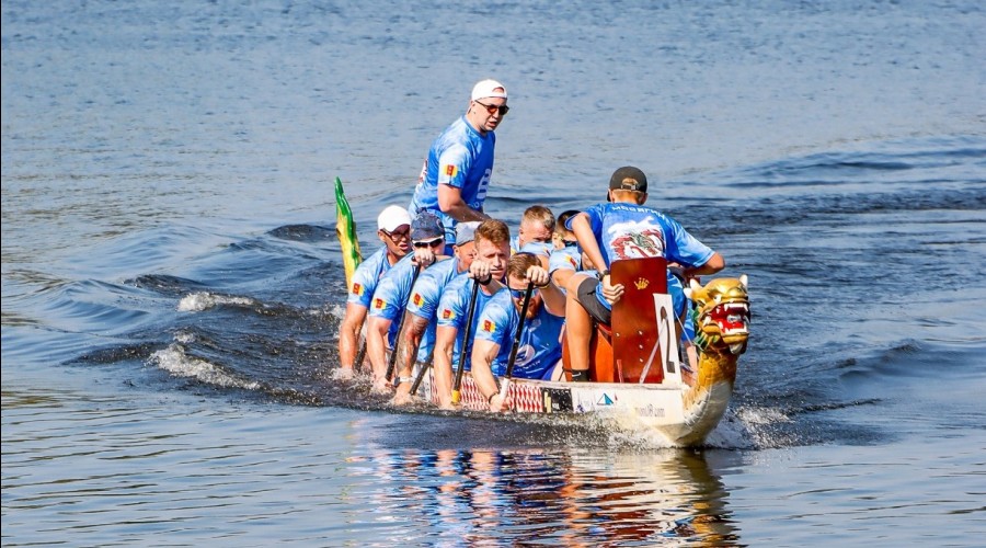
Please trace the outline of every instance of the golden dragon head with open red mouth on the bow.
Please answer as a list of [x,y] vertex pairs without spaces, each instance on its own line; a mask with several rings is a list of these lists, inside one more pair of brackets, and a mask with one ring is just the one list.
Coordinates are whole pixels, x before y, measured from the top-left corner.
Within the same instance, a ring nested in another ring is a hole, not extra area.
[[685,294],[695,302],[691,319],[696,345],[702,352],[740,355],[749,339],[747,277],[721,277],[699,285],[690,281]]

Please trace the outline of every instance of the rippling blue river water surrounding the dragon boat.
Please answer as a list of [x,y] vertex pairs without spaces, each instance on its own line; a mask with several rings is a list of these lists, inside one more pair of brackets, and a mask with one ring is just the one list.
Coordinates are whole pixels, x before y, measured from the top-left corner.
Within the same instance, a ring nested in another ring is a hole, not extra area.
[[[976,546],[977,2],[2,7],[4,546]],[[333,380],[372,249],[495,77],[488,210],[650,203],[749,275],[708,447]]]

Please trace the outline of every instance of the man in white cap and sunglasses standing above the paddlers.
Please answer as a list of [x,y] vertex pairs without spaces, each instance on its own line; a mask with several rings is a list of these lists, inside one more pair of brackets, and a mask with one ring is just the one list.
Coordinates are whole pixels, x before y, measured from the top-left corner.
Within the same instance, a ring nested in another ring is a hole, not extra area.
[[506,88],[482,80],[472,88],[466,114],[451,123],[428,149],[408,209],[429,209],[455,241],[458,222],[485,220],[483,203],[493,175],[494,130],[509,112]]

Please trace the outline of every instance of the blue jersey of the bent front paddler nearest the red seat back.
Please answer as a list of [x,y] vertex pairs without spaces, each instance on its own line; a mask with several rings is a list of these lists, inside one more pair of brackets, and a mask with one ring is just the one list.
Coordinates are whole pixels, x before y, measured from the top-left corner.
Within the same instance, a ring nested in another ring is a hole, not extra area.
[[[496,292],[480,315],[475,336],[500,345],[492,369],[496,376],[506,374],[511,347],[517,332],[520,313],[514,306],[511,292]],[[524,322],[520,346],[514,362],[514,376],[518,378],[547,379],[561,359],[561,330],[565,319],[553,316],[541,304],[532,319]]]

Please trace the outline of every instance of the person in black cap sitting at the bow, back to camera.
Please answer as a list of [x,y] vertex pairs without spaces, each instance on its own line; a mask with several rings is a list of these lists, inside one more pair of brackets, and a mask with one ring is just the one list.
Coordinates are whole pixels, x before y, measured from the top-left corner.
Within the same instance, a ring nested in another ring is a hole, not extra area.
[[[575,233],[593,264],[601,269],[598,279],[576,274],[569,282],[565,342],[572,380],[589,380],[593,322],[609,326],[612,304],[623,295],[623,286],[612,285],[609,279],[609,265],[614,261],[663,256],[668,262],[678,263],[686,277],[714,274],[725,266],[722,255],[688,233],[678,221],[645,207],[646,199],[646,175],[633,167],[620,168],[609,180],[607,202],[580,213],[566,222],[566,228]],[[684,288],[670,273],[667,275],[667,290],[675,313],[683,319],[686,308]]]

